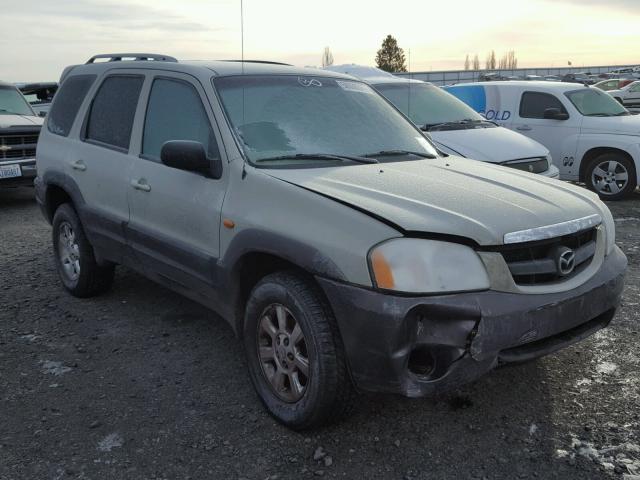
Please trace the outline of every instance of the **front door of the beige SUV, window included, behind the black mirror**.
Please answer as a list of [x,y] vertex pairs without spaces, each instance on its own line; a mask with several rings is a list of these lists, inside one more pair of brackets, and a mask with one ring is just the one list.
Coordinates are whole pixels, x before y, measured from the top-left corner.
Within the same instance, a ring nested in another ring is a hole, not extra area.
[[227,172],[215,180],[171,168],[160,152],[167,141],[191,140],[202,143],[209,158],[220,158],[213,112],[202,85],[186,74],[156,75],[144,96],[127,236],[148,274],[183,292],[206,294],[216,284]]

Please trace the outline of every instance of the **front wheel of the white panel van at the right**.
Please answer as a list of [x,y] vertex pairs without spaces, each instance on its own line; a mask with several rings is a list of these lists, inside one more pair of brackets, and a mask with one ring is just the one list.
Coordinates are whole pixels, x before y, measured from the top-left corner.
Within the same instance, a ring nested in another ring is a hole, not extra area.
[[603,200],[622,200],[636,189],[635,165],[620,153],[604,153],[589,163],[585,183]]

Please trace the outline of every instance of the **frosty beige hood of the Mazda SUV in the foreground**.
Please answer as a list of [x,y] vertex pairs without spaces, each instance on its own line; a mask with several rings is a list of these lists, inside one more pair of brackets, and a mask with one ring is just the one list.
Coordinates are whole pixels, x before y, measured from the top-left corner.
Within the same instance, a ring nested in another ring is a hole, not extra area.
[[[505,233],[600,213],[588,190],[461,157],[329,168],[264,169],[385,219],[401,231],[501,245]],[[606,208],[606,207],[605,207]]]

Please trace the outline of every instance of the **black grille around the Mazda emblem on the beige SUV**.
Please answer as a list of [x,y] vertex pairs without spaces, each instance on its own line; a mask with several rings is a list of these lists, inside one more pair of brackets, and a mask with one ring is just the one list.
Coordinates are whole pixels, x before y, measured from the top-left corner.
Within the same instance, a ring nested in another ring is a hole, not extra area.
[[[596,253],[597,228],[563,237],[500,247],[513,280],[518,285],[540,285],[567,280],[589,266]],[[559,252],[573,251],[574,267],[569,274],[560,272]]]

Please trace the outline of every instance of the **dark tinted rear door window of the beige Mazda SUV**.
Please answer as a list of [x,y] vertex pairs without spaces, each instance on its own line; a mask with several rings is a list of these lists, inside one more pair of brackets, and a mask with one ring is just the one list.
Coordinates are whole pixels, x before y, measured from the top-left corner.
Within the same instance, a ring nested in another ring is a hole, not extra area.
[[107,77],[91,104],[85,139],[118,150],[128,150],[143,82],[142,75]]

